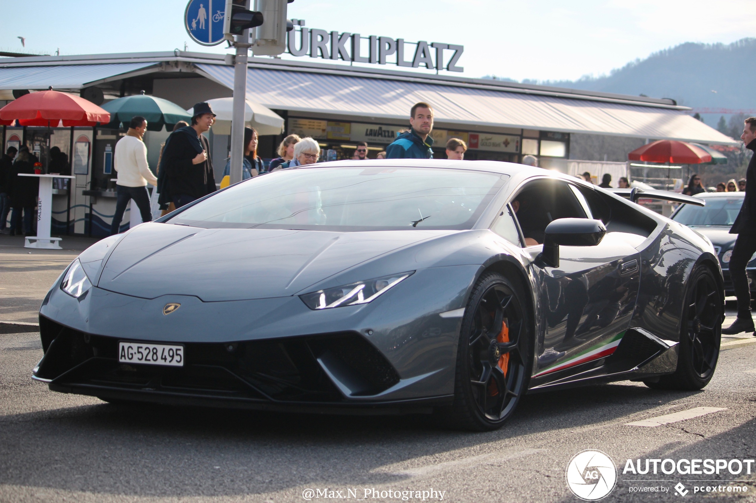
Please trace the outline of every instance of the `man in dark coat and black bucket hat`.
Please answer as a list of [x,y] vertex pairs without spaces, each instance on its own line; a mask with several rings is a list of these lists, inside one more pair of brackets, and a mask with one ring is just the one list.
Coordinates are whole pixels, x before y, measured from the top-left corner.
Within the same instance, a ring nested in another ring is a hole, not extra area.
[[215,121],[208,103],[197,103],[191,126],[171,133],[163,149],[160,171],[165,170],[171,198],[176,208],[215,192],[215,173],[207,152],[209,144],[202,133]]

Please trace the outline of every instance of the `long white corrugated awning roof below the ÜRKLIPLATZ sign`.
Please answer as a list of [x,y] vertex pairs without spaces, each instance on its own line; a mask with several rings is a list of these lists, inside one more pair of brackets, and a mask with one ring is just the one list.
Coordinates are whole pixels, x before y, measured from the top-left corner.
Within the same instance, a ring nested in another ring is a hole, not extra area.
[[[233,89],[233,67],[200,63],[197,69]],[[657,106],[391,78],[256,68],[250,68],[248,72],[248,96],[271,109],[405,120],[414,103],[426,101],[433,106],[435,120],[445,124],[733,143],[729,136],[681,110]]]

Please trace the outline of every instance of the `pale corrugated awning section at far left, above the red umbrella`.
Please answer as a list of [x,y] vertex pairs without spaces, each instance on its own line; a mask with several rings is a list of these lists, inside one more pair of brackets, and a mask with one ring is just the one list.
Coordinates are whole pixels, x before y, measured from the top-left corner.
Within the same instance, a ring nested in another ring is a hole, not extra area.
[[154,66],[154,62],[103,65],[6,66],[0,68],[0,89],[81,89],[126,72]]

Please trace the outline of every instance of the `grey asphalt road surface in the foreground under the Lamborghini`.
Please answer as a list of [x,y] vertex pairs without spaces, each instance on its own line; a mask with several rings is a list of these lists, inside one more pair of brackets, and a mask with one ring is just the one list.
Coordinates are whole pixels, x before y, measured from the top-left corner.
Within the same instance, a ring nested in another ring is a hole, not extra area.
[[[42,356],[38,334],[0,335],[0,501],[306,501],[306,489],[314,491],[311,501],[342,499],[336,491],[344,499],[423,501],[422,493],[403,500],[389,490],[435,491],[425,501],[579,501],[565,468],[583,449],[600,449],[619,465],[617,485],[603,501],[756,501],[756,466],[750,475],[718,477],[622,473],[627,459],[756,457],[750,342],[722,352],[702,391],[619,382],[534,394],[504,428],[472,434],[448,431],[427,416],[110,405],[33,382]],[[653,428],[625,425],[699,406],[723,409]],[[702,495],[693,485],[707,482],[691,479],[735,480],[721,483],[748,492]],[[678,482],[684,497],[674,493]]]

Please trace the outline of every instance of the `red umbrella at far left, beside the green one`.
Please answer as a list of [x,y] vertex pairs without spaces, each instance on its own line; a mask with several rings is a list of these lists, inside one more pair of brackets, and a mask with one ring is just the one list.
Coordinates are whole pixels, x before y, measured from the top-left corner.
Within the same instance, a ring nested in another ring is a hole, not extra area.
[[57,90],[24,94],[0,109],[0,124],[18,119],[22,126],[96,126],[110,122],[110,113],[95,103]]

